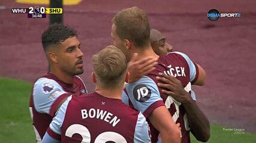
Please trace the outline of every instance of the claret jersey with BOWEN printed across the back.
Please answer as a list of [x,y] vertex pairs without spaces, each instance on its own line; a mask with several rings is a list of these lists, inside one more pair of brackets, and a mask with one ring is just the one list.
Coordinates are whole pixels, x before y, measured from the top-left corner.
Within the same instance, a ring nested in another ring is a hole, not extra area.
[[[122,100],[93,92],[71,96],[50,123],[43,142],[150,142],[149,126],[141,112]],[[52,140],[51,140],[52,141]]]

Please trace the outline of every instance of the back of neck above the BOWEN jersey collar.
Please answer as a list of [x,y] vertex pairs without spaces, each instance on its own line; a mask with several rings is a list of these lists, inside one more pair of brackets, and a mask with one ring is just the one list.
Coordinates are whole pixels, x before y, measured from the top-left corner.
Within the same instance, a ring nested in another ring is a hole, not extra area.
[[122,100],[122,91],[123,88],[100,88],[99,86],[96,86],[95,92],[97,92],[100,95],[103,95],[103,97],[107,98],[113,98],[113,99],[118,99]]

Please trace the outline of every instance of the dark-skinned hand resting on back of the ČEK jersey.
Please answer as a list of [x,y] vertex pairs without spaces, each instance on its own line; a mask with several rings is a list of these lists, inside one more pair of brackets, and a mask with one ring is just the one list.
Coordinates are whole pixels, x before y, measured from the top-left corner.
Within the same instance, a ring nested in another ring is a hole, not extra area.
[[170,95],[174,100],[183,104],[192,100],[189,93],[183,88],[180,80],[176,79],[176,77],[159,73],[159,76],[156,76],[156,79],[161,82],[157,83],[157,85],[162,88],[163,94]]

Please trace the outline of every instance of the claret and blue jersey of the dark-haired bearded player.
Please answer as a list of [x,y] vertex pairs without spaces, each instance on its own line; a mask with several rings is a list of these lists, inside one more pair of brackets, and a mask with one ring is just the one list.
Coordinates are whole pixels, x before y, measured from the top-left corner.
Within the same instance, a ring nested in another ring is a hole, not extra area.
[[86,87],[79,76],[74,76],[74,83],[67,84],[54,74],[47,73],[38,79],[32,88],[29,108],[37,136],[40,142],[52,122],[58,104],[72,95],[86,94]]

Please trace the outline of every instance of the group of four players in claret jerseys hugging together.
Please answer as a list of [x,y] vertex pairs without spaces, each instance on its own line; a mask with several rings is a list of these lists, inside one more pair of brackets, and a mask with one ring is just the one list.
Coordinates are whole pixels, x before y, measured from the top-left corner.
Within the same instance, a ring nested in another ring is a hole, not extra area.
[[[41,36],[50,71],[32,87],[29,108],[37,142],[190,142],[210,137],[192,85],[206,73],[150,29],[137,7],[112,19],[113,45],[92,57],[95,91],[83,80],[77,31],[53,24]],[[92,47],[86,47],[92,48]]]

